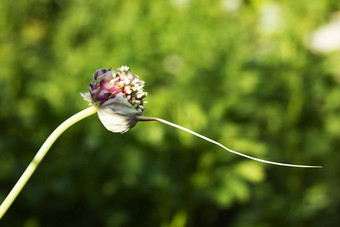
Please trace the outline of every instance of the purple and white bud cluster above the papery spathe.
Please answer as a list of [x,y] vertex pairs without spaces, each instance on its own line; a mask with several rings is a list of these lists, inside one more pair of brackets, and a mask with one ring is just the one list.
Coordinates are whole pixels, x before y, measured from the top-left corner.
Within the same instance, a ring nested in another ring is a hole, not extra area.
[[95,106],[102,106],[106,101],[121,94],[140,113],[144,112],[143,99],[147,96],[144,92],[144,81],[137,75],[130,73],[127,66],[117,69],[99,69],[93,76],[89,92],[82,94],[84,99]]

